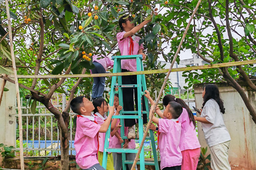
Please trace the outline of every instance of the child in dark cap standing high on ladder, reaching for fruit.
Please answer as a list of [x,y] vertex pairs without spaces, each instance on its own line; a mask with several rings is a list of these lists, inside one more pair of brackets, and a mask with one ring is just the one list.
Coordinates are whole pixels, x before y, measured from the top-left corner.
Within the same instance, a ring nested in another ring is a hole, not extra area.
[[[124,19],[127,15],[119,18],[119,26],[121,32],[116,34],[116,39],[118,42],[118,48],[121,55],[137,55],[142,54],[143,59],[145,59],[145,54],[143,53],[143,44],[139,45],[140,37],[135,36],[135,34],[140,31],[147,23],[151,20],[145,20],[138,26],[134,27],[134,23],[131,23],[132,18],[129,16]],[[122,72],[137,71],[136,59],[123,59],[121,60]],[[137,75],[122,76],[123,85],[137,84]],[[137,101],[137,88],[123,88],[123,109],[124,111],[134,111],[134,96],[136,109],[138,108]],[[143,98],[143,111],[145,111],[145,101]],[[143,123],[147,123],[147,115],[143,114]],[[135,139],[134,125],[136,124],[135,119],[125,119],[125,126],[129,127],[128,139]]]

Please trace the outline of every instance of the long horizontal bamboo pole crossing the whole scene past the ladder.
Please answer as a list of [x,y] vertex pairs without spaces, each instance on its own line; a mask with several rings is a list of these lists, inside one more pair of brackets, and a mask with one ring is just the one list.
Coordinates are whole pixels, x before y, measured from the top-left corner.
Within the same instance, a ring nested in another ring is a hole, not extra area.
[[[204,70],[209,68],[221,68],[221,67],[230,67],[236,65],[247,65],[255,64],[256,60],[246,60],[246,61],[237,61],[237,62],[225,62],[218,64],[208,64],[192,67],[180,67],[173,68],[172,72],[178,71],[192,71],[192,70]],[[147,70],[147,71],[131,71],[131,72],[121,72],[121,73],[103,73],[103,74],[67,74],[67,75],[17,75],[18,79],[53,79],[53,78],[79,78],[79,77],[111,77],[111,76],[127,76],[127,75],[138,75],[138,74],[159,74],[167,73],[169,69],[159,69],[159,70]],[[14,78],[14,75],[8,75],[8,78]]]

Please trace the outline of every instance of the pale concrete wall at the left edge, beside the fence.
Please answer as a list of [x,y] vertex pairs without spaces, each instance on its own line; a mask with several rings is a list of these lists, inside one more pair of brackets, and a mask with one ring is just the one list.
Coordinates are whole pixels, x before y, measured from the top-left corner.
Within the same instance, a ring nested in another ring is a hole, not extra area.
[[[0,84],[1,83],[3,83],[3,79],[0,79]],[[9,91],[3,92],[3,98],[0,105],[0,143],[14,146],[16,116],[9,115],[16,114],[16,110],[14,109],[16,99],[15,84],[6,82],[5,87],[8,88]]]

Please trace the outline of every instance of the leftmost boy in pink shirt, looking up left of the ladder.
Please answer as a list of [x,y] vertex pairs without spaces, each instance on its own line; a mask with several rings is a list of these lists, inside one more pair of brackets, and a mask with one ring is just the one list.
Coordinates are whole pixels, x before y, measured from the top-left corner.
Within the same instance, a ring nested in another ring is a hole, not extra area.
[[102,125],[97,124],[96,117],[91,113],[93,103],[84,96],[78,96],[70,102],[70,107],[77,113],[76,119],[76,163],[83,170],[105,170],[97,159],[99,150],[99,133],[105,133],[114,113],[114,106],[108,106],[109,115]]

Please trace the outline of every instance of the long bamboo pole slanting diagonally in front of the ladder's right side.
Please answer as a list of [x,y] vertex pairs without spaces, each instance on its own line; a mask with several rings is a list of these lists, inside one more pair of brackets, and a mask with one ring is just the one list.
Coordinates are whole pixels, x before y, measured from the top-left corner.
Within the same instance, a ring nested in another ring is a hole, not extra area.
[[139,150],[138,150],[138,152],[137,152],[137,154],[136,154],[136,157],[135,157],[135,159],[134,159],[134,163],[132,164],[131,170],[134,170],[134,168],[135,168],[135,166],[136,166],[136,164],[137,164],[138,158],[139,158],[139,156],[140,156],[140,152],[141,152],[141,150],[142,150],[142,147],[143,147],[143,145],[144,145],[144,141],[145,141],[145,139],[146,139],[146,136],[147,136],[147,133],[148,133],[148,130],[149,130],[149,126],[150,126],[150,124],[151,124],[152,118],[153,118],[153,116],[154,116],[154,113],[155,113],[155,110],[156,110],[156,107],[157,107],[157,103],[158,103],[159,100],[160,100],[160,97],[161,97],[161,95],[162,95],[162,93],[163,93],[163,89],[164,89],[164,87],[165,87],[165,85],[166,85],[166,82],[167,82],[167,80],[169,79],[169,75],[170,75],[170,73],[171,73],[171,71],[172,71],[172,67],[173,67],[173,65],[174,65],[174,63],[175,63],[175,61],[176,61],[176,59],[177,59],[178,53],[180,52],[180,48],[181,48],[181,45],[182,45],[182,43],[183,43],[183,40],[184,40],[185,37],[186,37],[186,34],[187,34],[188,29],[189,29],[190,23],[191,23],[191,21],[192,21],[194,15],[195,15],[195,12],[196,12],[197,9],[198,9],[198,6],[200,5],[200,3],[201,3],[201,0],[198,0],[198,3],[197,3],[197,5],[196,5],[196,7],[195,7],[195,9],[194,9],[194,11],[193,11],[193,13],[192,13],[190,19],[189,19],[189,23],[188,23],[188,25],[186,26],[186,29],[185,29],[185,31],[184,31],[184,33],[183,33],[183,36],[182,36],[181,40],[180,40],[180,44],[179,44],[178,49],[177,49],[177,51],[176,51],[176,53],[175,53],[174,59],[172,60],[172,64],[171,64],[171,66],[170,66],[170,68],[169,68],[169,71],[167,72],[166,78],[164,79],[164,82],[163,82],[162,88],[160,89],[160,92],[159,92],[159,94],[158,94],[157,100],[156,100],[156,102],[154,103],[154,109],[153,109],[152,113],[149,113],[149,121],[148,121],[148,125],[147,125],[146,130],[145,130],[144,135],[143,135],[142,144],[140,144]]

